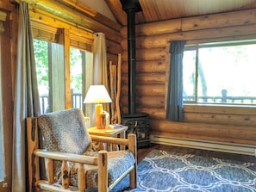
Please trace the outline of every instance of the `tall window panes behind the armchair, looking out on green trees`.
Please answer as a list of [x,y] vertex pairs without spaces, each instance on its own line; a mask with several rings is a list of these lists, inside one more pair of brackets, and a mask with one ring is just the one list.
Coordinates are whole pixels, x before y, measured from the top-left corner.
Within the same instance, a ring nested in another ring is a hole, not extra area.
[[[44,40],[34,40],[34,58],[41,102],[41,114],[64,107],[64,102],[60,100],[65,100],[65,71],[64,63],[61,59],[63,55],[59,50],[63,50],[63,47],[59,47],[59,44]],[[86,78],[83,82],[83,77],[89,74],[83,74],[83,71],[85,71],[83,70],[83,65],[90,65],[91,59],[92,53],[74,47],[70,48],[72,108],[83,109],[83,91],[85,91],[85,85],[83,84],[88,84]]]

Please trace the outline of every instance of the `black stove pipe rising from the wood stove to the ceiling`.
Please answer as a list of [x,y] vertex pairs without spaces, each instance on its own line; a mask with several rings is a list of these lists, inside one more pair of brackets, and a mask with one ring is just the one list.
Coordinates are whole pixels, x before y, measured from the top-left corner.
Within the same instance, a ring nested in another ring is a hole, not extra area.
[[120,0],[127,13],[128,28],[128,114],[136,113],[136,38],[135,13],[141,11],[138,0]]

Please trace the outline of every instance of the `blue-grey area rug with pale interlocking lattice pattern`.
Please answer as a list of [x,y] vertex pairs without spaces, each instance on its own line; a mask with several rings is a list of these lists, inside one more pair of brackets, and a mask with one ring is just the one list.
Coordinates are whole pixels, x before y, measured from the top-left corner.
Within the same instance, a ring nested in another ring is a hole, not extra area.
[[154,150],[138,164],[138,188],[128,177],[111,192],[256,192],[256,165]]

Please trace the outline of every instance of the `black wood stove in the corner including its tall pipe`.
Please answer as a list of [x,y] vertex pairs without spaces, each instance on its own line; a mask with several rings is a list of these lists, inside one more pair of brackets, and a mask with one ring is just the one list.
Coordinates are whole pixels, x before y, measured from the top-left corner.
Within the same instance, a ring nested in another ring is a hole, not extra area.
[[122,115],[122,125],[128,126],[128,133],[136,133],[137,146],[150,146],[149,115],[136,113],[136,40],[135,13],[141,11],[138,0],[120,0],[128,18],[128,114]]

